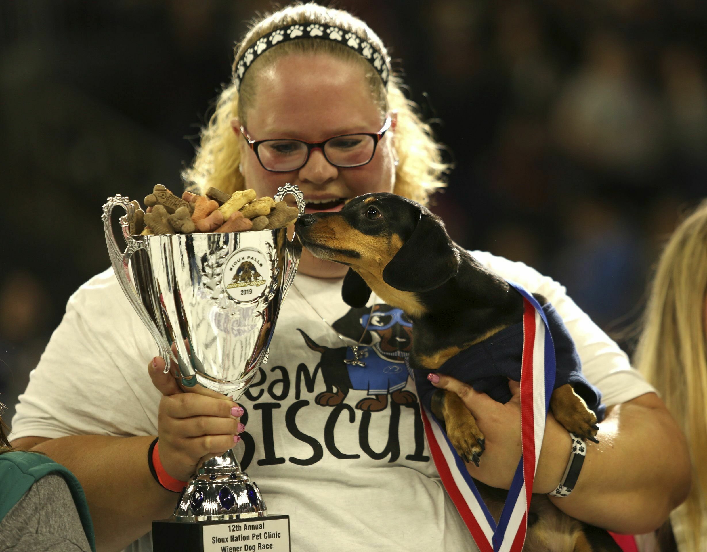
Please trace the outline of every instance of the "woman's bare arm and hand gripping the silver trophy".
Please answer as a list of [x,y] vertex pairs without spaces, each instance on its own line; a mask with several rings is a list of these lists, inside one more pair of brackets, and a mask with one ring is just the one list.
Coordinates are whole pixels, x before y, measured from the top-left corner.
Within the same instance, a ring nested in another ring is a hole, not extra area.
[[[240,421],[233,401],[216,393],[182,393],[164,368],[161,358],[148,366],[153,385],[163,394],[158,416],[160,461],[170,476],[187,481],[203,459],[233,447]],[[13,446],[34,445],[37,440],[18,439]],[[78,478],[99,551],[122,550],[151,531],[153,519],[165,519],[174,512],[179,495],[160,486],[149,469],[147,454],[153,440],[153,435],[71,435],[33,447]]]

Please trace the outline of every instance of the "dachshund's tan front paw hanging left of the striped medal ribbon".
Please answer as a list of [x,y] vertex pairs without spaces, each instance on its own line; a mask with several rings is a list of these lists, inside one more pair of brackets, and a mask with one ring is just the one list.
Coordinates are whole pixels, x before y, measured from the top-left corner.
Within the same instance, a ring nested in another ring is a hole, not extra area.
[[486,448],[484,434],[462,399],[456,393],[437,389],[431,406],[438,420],[444,421],[447,436],[460,457],[479,467],[479,458]]

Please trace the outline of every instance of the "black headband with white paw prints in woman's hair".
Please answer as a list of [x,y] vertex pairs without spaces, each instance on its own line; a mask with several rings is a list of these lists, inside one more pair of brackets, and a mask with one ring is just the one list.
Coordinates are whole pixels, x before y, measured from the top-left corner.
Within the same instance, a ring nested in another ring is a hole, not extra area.
[[358,54],[368,59],[373,69],[380,75],[383,86],[387,88],[388,76],[390,76],[390,63],[372,42],[361,40],[361,38],[354,33],[349,33],[349,31],[339,29],[338,27],[318,25],[317,23],[300,23],[276,29],[264,37],[260,37],[255,44],[251,45],[243,52],[243,55],[238,59],[235,65],[235,89],[240,89],[240,82],[243,81],[245,71],[248,70],[248,67],[250,67],[253,61],[258,59],[263,52],[266,52],[268,49],[281,42],[297,40],[298,38],[331,40],[332,42],[339,42],[339,44],[356,50]]

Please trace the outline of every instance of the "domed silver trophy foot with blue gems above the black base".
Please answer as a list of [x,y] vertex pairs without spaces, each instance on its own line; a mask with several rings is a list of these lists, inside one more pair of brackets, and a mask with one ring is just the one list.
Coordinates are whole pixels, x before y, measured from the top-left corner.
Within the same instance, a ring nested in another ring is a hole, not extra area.
[[231,449],[204,462],[182,492],[172,519],[201,522],[266,515],[258,486],[240,469]]

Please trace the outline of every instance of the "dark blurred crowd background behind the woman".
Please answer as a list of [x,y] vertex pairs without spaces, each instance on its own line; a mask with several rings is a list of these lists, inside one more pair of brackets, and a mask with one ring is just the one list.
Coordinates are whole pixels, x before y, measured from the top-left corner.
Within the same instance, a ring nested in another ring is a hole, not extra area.
[[[526,262],[631,351],[650,267],[707,196],[707,2],[341,0],[455,163],[452,237]],[[259,0],[0,0],[0,401],[110,262],[101,206],[180,189]],[[110,312],[105,315],[110,317]]]

